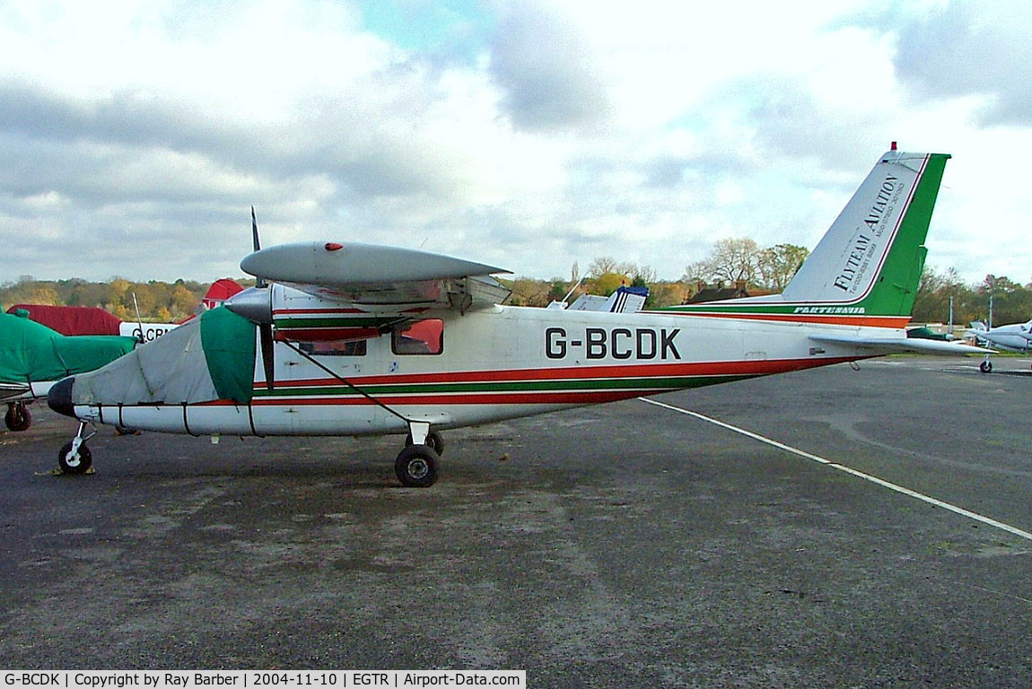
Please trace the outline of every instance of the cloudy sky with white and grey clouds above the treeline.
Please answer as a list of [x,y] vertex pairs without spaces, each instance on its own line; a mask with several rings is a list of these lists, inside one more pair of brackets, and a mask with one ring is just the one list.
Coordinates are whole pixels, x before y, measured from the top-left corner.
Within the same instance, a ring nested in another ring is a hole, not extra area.
[[678,278],[812,249],[892,140],[954,155],[929,263],[1032,280],[1025,2],[0,3],[0,283],[390,243]]

